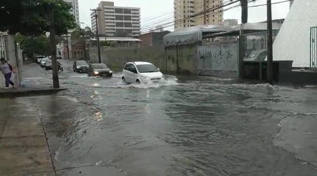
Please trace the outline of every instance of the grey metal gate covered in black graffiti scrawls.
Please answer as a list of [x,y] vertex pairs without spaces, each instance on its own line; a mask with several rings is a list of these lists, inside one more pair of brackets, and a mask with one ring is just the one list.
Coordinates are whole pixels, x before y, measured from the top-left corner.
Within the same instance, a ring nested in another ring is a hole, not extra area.
[[238,43],[198,46],[197,74],[238,77]]

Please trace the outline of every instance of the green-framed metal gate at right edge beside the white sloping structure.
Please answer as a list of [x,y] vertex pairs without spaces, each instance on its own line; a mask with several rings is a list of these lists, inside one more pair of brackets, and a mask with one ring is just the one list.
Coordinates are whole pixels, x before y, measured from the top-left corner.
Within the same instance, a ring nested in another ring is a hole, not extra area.
[[317,67],[317,26],[310,28],[310,68]]

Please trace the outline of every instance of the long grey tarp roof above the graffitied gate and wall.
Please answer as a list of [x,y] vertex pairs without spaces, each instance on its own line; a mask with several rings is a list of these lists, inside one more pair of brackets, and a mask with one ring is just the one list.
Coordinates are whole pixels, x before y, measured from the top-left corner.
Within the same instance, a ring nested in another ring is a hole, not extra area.
[[[273,23],[273,30],[279,30],[281,24]],[[267,23],[245,23],[243,30],[263,31],[267,29]],[[235,27],[217,26],[217,25],[198,25],[192,27],[184,27],[175,30],[164,36],[165,45],[176,45],[180,43],[195,43],[202,40],[202,33],[225,33],[225,32],[240,31],[240,25]]]

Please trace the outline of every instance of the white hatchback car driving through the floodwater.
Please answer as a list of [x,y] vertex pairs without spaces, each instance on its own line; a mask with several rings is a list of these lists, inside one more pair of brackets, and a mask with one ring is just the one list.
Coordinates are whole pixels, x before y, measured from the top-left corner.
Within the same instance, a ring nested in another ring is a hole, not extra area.
[[126,83],[148,83],[163,81],[164,75],[148,62],[128,62],[122,71],[122,81]]

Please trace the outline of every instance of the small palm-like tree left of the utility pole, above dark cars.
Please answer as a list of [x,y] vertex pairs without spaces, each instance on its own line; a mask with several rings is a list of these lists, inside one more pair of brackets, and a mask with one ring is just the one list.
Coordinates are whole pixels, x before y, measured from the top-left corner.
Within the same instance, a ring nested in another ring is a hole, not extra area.
[[84,29],[77,28],[71,34],[72,40],[81,44],[84,50],[85,58],[87,58],[86,42],[87,40],[94,38],[95,36],[96,35],[91,31],[90,27],[85,27]]

